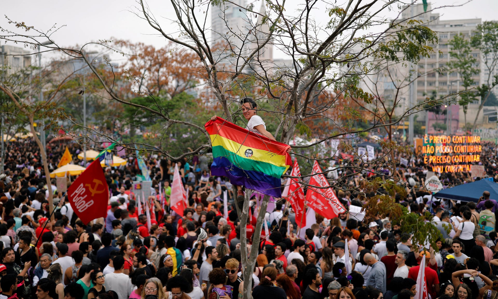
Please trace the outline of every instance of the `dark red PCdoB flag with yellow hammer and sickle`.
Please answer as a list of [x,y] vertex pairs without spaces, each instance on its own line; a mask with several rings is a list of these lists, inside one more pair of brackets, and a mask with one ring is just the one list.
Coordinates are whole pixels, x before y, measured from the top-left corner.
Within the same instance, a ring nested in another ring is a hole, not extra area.
[[83,223],[107,216],[109,187],[99,159],[71,184],[67,194],[71,207]]

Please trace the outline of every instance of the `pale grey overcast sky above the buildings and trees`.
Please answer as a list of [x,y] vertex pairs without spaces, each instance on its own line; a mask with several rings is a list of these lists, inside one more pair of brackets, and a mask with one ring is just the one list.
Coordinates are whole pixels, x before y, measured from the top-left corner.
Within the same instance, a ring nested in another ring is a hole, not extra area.
[[[339,0],[340,1],[340,0]],[[167,0],[148,0],[156,18],[163,21],[163,27],[169,23],[167,18],[174,17]],[[196,2],[198,2],[196,0]],[[249,1],[248,1],[249,2]],[[288,0],[295,5],[299,0]],[[466,0],[438,0],[433,6],[458,5]],[[441,19],[482,18],[483,20],[497,19],[497,0],[473,0],[460,7],[444,8],[436,11],[441,13]],[[259,7],[259,0],[254,1]],[[83,44],[92,40],[129,39],[140,41],[154,46],[162,46],[165,39],[158,36],[146,22],[130,12],[137,5],[134,0],[14,0],[4,1],[1,6],[2,14],[14,21],[24,21],[27,25],[48,30],[54,23],[57,26],[66,25],[59,29],[52,39],[62,46]],[[287,12],[293,10],[291,6]],[[386,17],[395,17],[396,12],[386,12]],[[209,17],[209,16],[208,16]],[[6,26],[5,18],[0,19],[0,25]],[[0,43],[2,43],[0,41]]]

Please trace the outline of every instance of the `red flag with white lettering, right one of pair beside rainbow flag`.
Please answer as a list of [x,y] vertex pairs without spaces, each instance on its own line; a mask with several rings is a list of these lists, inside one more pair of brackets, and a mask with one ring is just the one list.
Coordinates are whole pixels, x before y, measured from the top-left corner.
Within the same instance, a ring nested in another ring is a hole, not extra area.
[[340,213],[345,212],[346,209],[337,198],[334,190],[330,187],[325,175],[322,174],[322,169],[320,169],[317,161],[313,164],[313,173],[315,175],[310,178],[309,184],[325,188],[309,187],[308,192],[306,192],[308,205],[327,219],[335,218]]

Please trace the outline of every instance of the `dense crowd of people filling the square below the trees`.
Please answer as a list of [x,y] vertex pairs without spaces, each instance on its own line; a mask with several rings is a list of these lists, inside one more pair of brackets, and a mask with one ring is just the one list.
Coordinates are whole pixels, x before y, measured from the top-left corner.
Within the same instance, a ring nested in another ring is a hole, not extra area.
[[[50,170],[65,147],[48,149]],[[69,148],[75,163],[88,164],[75,158],[80,148]],[[376,154],[382,157],[384,152],[377,149]],[[388,215],[358,221],[347,211],[333,219],[316,213],[316,223],[301,230],[285,199],[272,199],[274,209],[264,220],[270,233],[263,231],[255,240],[259,194],[254,193],[246,231],[248,248],[257,246],[258,254],[251,284],[245,286],[249,280],[241,263],[237,194],[228,179],[210,175],[209,156],[171,161],[154,155],[146,161],[155,213],[150,227],[131,188],[141,173],[134,159],[105,167],[107,217],[83,223],[54,179],[54,213],[49,213],[36,144],[29,139],[10,143],[0,175],[0,299],[236,299],[244,290],[254,299],[413,299],[421,290],[417,276],[422,259],[430,298],[498,299],[498,203],[489,192],[479,203],[435,200],[423,189],[430,171],[423,157],[402,151],[395,156],[407,162],[398,164],[394,173],[383,158],[362,171],[347,167],[357,158],[336,158],[335,165],[345,167],[338,171],[334,191],[346,208],[361,206],[357,198],[362,179],[397,177],[408,195],[396,201],[411,213],[432,213],[431,221],[442,234],[437,248],[412,245],[410,234]],[[495,145],[486,144],[481,157],[487,176],[496,177]],[[171,194],[175,163],[188,189],[183,215],[162,204]],[[475,179],[466,172],[439,176],[445,187]],[[488,217],[486,227],[479,223],[483,215]]]

